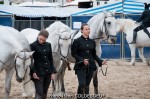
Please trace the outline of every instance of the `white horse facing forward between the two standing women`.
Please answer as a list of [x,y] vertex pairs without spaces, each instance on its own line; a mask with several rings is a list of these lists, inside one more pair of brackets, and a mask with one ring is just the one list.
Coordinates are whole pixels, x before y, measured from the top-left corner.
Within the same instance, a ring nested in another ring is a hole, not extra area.
[[[54,22],[46,30],[49,32],[47,42],[52,45],[54,65],[57,70],[56,79],[53,82],[53,92],[56,94],[62,89],[60,84],[65,74],[65,69],[63,68],[66,68],[66,65],[61,67],[63,64],[62,61],[67,60],[71,45],[71,36],[74,33],[71,33],[71,29],[60,21]],[[37,39],[39,31],[27,28],[22,30],[21,33],[25,35],[29,43],[32,43]]]

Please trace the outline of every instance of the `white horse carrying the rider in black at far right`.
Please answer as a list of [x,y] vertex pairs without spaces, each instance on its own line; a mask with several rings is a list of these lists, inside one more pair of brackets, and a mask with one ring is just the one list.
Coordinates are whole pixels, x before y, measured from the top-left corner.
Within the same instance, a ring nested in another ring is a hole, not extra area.
[[[133,30],[139,26],[139,24],[135,24],[135,21],[131,19],[118,19],[118,25],[120,26],[120,31],[122,33],[126,34],[126,40],[128,43],[132,42],[133,40]],[[150,28],[148,28],[150,31]],[[116,35],[116,34],[111,34]],[[113,38],[111,38],[113,40]],[[110,41],[110,43],[112,43]],[[114,39],[116,40],[116,39]],[[143,47],[149,47],[150,46],[150,38],[146,33],[144,33],[143,30],[140,30],[137,32],[137,38],[136,38],[136,44],[129,44],[130,51],[131,51],[131,62],[130,65],[135,65],[135,50],[138,49],[138,53],[140,58],[144,63],[147,63],[147,65],[150,65],[149,62],[145,59],[143,55]]]

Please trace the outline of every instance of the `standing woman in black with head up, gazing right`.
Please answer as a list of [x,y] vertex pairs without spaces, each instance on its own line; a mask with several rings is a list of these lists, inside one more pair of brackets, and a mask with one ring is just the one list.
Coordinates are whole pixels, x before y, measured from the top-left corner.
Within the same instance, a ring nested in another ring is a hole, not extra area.
[[101,60],[96,55],[96,44],[94,40],[89,38],[90,27],[88,24],[81,26],[81,32],[82,36],[75,39],[72,44],[71,54],[76,60],[74,70],[79,83],[77,99],[87,99],[89,96],[89,85],[93,73],[97,69],[95,61],[101,67],[103,64],[106,64],[106,60]]

